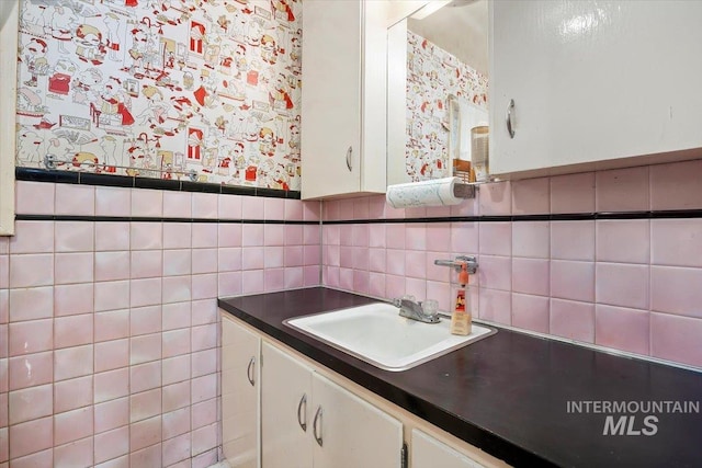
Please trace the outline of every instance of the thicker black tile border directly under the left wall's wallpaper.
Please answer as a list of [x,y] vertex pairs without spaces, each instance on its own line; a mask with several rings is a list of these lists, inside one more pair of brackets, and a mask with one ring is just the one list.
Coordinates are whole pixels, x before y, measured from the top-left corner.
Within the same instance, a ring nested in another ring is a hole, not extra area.
[[249,195],[264,196],[269,198],[301,199],[299,191],[224,185],[206,182],[168,181],[152,178],[131,178],[127,175],[93,174],[88,172],[70,172],[35,168],[15,168],[14,178],[18,181],[30,182],[103,185],[127,189],[156,189],[176,192],[220,193],[225,195]]

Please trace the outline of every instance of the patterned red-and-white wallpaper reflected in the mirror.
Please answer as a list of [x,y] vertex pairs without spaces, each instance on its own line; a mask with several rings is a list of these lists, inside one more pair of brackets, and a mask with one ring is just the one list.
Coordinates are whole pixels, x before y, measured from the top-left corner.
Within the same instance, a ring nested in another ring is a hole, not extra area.
[[412,181],[449,176],[449,96],[456,96],[460,103],[465,146],[469,144],[468,117],[476,124],[480,115],[487,119],[488,80],[411,31],[407,31],[407,174]]

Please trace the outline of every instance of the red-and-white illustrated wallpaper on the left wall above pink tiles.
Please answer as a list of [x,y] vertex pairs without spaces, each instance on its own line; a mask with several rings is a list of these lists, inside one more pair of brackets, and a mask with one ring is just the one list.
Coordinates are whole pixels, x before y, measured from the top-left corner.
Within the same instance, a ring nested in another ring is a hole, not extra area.
[[299,190],[301,0],[21,0],[18,165]]

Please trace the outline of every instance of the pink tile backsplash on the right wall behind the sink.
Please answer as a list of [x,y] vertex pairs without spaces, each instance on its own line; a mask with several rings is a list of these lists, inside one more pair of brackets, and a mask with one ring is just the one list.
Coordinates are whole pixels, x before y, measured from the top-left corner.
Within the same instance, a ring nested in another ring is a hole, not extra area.
[[[324,219],[702,209],[700,180],[697,160],[492,183],[450,208],[330,201]],[[450,270],[433,260],[474,254],[476,317],[702,368],[701,240],[697,218],[326,225],[322,274],[331,287],[448,310]]]

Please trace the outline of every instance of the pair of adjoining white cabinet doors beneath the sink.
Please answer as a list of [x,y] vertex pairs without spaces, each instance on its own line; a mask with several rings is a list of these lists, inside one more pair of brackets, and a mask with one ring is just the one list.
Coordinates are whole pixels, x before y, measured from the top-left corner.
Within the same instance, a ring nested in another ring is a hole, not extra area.
[[267,468],[398,468],[403,424],[263,343],[262,461]]

